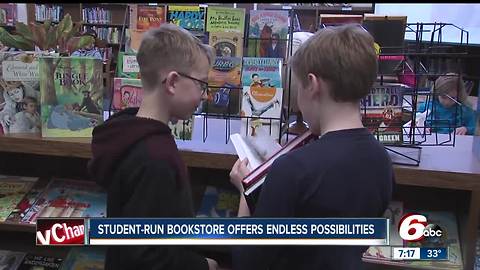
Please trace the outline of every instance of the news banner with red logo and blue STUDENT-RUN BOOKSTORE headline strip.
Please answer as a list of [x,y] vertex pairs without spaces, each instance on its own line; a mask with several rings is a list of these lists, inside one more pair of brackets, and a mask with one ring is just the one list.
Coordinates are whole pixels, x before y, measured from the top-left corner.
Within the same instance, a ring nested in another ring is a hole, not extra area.
[[37,245],[389,245],[384,218],[38,219]]

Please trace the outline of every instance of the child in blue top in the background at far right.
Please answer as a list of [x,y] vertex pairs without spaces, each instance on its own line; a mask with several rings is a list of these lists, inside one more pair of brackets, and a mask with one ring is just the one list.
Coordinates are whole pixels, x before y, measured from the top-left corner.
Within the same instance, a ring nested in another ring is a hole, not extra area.
[[428,110],[425,125],[433,132],[473,135],[475,111],[468,103],[462,77],[447,73],[437,78],[432,89],[432,98],[418,105],[419,113]]

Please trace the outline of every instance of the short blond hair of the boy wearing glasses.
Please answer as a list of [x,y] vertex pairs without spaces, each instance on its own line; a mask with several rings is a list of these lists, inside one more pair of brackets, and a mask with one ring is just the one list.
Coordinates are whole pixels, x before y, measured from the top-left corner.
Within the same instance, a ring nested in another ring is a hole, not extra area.
[[160,83],[160,72],[188,73],[202,54],[212,65],[213,48],[175,24],[165,23],[147,31],[137,53],[143,86],[156,87]]

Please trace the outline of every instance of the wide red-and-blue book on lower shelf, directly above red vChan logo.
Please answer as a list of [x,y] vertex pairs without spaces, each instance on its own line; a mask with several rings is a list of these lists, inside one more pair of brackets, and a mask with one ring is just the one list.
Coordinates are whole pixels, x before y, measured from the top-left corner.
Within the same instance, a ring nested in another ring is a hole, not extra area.
[[38,217],[106,217],[107,194],[94,182],[52,179],[24,222]]

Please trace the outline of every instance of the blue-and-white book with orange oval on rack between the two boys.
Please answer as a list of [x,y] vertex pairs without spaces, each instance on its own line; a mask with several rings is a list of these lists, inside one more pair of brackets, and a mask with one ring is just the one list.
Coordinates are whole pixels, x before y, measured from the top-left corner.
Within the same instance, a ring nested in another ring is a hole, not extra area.
[[283,99],[282,59],[244,57],[242,71],[241,134],[260,129],[279,138]]

